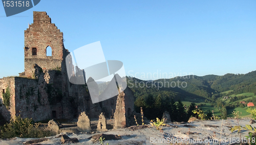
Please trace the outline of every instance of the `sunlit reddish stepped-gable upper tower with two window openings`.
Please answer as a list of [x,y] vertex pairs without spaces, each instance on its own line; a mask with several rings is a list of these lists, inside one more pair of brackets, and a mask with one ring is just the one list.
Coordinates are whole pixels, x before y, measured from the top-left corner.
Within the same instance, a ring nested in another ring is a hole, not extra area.
[[[33,23],[25,30],[25,75],[33,77],[35,64],[42,69],[61,68],[65,57],[63,33],[51,23],[46,12],[33,12]],[[51,49],[51,54],[47,54]],[[48,50],[48,51],[49,51]]]

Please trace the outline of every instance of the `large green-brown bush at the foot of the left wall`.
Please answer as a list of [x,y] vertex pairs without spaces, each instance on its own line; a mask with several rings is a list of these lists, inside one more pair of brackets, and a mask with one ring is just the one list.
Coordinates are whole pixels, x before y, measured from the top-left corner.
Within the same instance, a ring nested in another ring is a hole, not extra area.
[[22,118],[19,115],[1,128],[0,137],[41,138],[51,135],[49,130],[40,129],[38,126],[39,124],[32,124],[32,119]]

